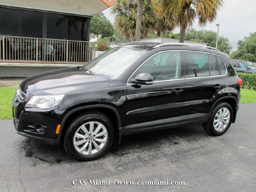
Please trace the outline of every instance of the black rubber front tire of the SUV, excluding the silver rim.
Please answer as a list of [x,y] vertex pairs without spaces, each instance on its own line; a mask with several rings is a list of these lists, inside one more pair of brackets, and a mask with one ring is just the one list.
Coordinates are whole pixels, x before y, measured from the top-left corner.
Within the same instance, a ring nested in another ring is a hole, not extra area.
[[[75,149],[75,146],[73,144],[73,138],[74,138],[74,134],[76,133],[76,131],[80,126],[91,121],[100,122],[101,124],[103,124],[108,132],[108,137],[107,137],[106,144],[103,146],[103,148],[100,151],[96,152],[95,154],[84,155],[79,153]],[[63,145],[68,155],[71,156],[72,158],[75,158],[81,161],[89,161],[89,160],[94,160],[103,156],[111,147],[113,141],[114,141],[114,128],[110,119],[100,112],[92,111],[92,112],[81,114],[69,124],[64,135]]]

